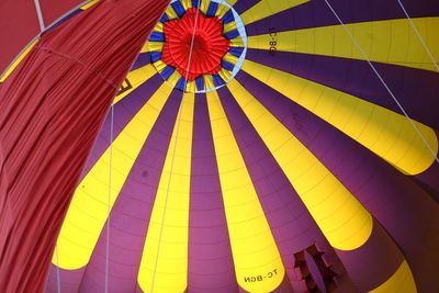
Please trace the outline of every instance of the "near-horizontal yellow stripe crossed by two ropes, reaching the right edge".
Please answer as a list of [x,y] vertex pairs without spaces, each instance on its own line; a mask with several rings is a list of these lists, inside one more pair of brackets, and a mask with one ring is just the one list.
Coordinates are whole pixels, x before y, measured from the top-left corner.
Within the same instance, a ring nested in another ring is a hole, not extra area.
[[[439,59],[439,18],[413,19],[436,59]],[[371,61],[436,70],[408,20],[385,20],[347,24]],[[341,25],[290,32],[275,36],[278,50],[364,59]],[[273,36],[248,37],[250,48],[269,49]]]

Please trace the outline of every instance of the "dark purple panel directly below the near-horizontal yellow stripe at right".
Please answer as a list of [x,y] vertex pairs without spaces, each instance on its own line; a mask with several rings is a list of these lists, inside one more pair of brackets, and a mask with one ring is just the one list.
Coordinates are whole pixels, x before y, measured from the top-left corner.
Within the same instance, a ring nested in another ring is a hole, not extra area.
[[[261,49],[248,49],[247,59],[403,114],[367,61],[288,52],[272,56]],[[390,64],[374,66],[412,119],[439,129],[437,72]]]

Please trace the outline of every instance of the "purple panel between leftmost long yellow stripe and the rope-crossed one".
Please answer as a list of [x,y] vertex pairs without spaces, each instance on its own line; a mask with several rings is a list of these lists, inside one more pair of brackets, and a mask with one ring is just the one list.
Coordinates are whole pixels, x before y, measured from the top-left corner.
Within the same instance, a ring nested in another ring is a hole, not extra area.
[[[173,91],[149,134],[111,212],[111,292],[133,292],[142,259],[149,217],[176,122],[181,93]],[[103,292],[106,226],[87,266],[80,292]]]

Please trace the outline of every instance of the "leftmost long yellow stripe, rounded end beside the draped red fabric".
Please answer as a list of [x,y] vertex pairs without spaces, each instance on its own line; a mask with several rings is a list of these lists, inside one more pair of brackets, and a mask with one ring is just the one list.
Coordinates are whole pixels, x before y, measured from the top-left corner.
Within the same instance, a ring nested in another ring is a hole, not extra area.
[[171,91],[164,83],[113,142],[110,206],[110,148],[79,183],[57,240],[58,259],[54,256],[54,264],[76,270],[89,262],[109,211]]

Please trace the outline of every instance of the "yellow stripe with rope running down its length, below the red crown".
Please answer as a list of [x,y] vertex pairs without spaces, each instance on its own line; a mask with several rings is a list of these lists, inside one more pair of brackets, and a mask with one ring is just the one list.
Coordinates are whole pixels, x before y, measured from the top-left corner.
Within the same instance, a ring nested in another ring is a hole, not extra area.
[[180,126],[176,123],[173,128],[142,256],[138,284],[144,292],[187,289],[193,108],[194,94],[185,93]]

